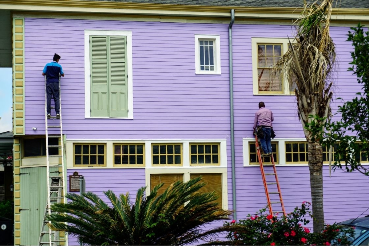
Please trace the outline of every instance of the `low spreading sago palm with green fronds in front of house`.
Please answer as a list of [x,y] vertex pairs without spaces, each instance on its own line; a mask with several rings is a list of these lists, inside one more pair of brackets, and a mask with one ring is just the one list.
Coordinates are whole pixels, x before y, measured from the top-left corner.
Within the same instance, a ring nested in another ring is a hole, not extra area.
[[184,245],[206,240],[234,226],[204,230],[204,225],[224,221],[232,212],[214,202],[215,191],[199,192],[205,185],[198,183],[200,179],[172,183],[159,195],[161,183],[147,197],[141,187],[134,204],[128,193],[117,197],[109,190],[104,194],[111,207],[92,192],[69,193],[68,203],[52,205],[60,214],[48,216],[50,226],[76,235],[83,245]]

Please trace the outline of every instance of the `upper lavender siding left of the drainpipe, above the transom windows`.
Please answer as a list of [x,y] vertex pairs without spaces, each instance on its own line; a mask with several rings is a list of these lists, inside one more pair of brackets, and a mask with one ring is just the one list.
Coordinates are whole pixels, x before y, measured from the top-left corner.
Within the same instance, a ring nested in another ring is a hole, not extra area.
[[[85,29],[132,31],[133,120],[85,119]],[[220,35],[221,75],[195,74],[195,34]],[[41,71],[56,52],[65,72],[61,95],[68,138],[227,138],[227,47],[228,25],[223,24],[27,18],[26,134],[35,134],[32,127],[38,134],[45,130]]]

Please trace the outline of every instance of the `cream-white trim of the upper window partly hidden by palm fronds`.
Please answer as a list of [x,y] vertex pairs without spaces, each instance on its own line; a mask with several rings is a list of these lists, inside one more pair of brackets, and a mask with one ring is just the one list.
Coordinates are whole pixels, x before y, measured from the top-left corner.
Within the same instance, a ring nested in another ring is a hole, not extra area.
[[[291,41],[292,42],[292,41]],[[288,38],[251,38],[251,56],[252,56],[252,88],[254,95],[294,95],[290,92],[290,86],[286,78],[283,78],[283,92],[281,93],[259,93],[258,85],[258,43],[282,43],[282,55],[288,50]]]

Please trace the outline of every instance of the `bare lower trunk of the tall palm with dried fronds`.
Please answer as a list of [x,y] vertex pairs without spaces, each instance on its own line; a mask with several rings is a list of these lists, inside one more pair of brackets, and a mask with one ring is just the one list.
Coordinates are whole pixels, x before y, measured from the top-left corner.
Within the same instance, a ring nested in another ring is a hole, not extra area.
[[311,202],[313,205],[313,229],[324,229],[323,211],[323,148],[319,142],[308,141]]

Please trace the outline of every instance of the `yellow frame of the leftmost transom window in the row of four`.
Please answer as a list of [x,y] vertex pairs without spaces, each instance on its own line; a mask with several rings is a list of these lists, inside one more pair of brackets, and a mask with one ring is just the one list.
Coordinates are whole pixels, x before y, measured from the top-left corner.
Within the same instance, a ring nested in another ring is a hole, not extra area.
[[[81,153],[76,153],[76,145],[81,145]],[[91,153],[91,146],[96,145],[96,153]],[[104,153],[99,153],[98,146],[104,146]],[[88,146],[89,153],[86,153],[84,150],[84,146]],[[76,164],[76,157],[81,157],[81,164]],[[104,163],[97,164],[99,157],[103,156]],[[89,164],[83,164],[83,160],[85,158],[89,159]],[[92,157],[92,158],[91,158]],[[96,157],[96,164],[90,164],[90,162]],[[96,167],[96,166],[106,166],[106,143],[73,143],[73,166],[75,167]]]

